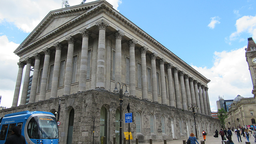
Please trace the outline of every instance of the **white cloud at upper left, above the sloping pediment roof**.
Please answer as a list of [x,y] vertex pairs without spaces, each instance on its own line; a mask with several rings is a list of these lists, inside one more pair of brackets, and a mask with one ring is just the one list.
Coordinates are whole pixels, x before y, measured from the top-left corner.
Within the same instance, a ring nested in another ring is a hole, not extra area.
[[[88,0],[92,2],[95,0]],[[107,0],[115,9],[121,0]],[[70,6],[78,5],[82,0],[70,0]],[[32,30],[42,21],[42,19],[51,11],[60,9],[61,0],[1,0],[0,23],[10,22],[24,32],[32,32]],[[12,10],[10,10],[12,8]]]

